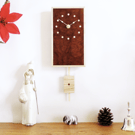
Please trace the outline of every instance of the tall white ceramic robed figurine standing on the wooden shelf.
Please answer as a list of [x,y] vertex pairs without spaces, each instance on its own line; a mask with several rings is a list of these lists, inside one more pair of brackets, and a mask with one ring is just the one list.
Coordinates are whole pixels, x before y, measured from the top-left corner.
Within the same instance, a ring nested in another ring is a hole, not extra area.
[[36,88],[34,86],[34,70],[32,63],[28,63],[28,69],[24,73],[24,83],[20,90],[19,100],[22,103],[22,124],[32,126],[36,124]]

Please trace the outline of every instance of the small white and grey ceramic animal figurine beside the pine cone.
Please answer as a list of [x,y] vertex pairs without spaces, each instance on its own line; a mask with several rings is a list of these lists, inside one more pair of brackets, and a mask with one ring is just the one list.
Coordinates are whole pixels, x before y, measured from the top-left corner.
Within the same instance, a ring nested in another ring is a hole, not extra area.
[[63,117],[63,122],[67,125],[71,125],[71,124],[77,125],[78,124],[78,118],[75,115],[72,115],[72,116],[66,115],[66,116]]

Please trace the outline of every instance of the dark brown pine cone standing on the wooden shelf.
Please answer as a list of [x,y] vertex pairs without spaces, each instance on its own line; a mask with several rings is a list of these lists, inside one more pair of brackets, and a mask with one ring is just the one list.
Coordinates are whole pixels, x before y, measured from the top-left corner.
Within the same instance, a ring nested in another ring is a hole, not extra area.
[[113,123],[113,121],[112,121],[113,115],[110,111],[111,111],[111,109],[106,108],[106,107],[99,110],[98,122],[99,122],[100,125],[110,126]]

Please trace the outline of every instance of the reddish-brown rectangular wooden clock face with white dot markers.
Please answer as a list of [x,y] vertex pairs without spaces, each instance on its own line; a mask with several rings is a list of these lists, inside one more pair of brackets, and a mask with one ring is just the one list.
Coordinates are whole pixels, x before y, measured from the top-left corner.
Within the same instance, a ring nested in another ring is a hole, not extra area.
[[53,8],[53,65],[84,65],[83,8]]

